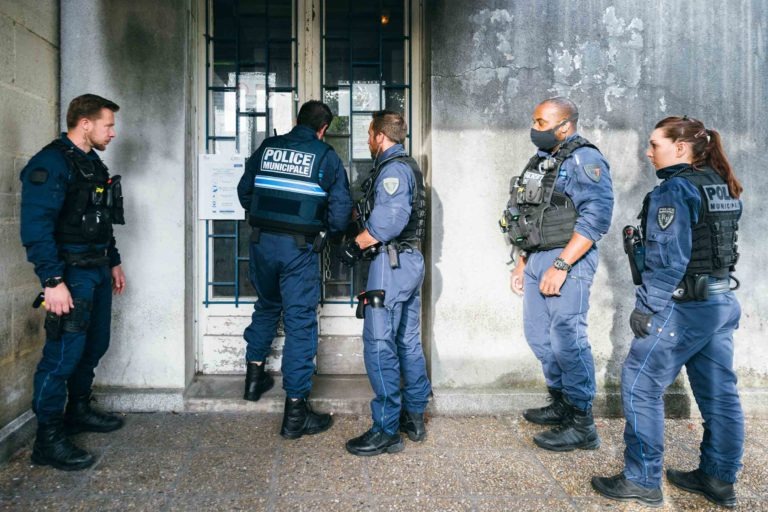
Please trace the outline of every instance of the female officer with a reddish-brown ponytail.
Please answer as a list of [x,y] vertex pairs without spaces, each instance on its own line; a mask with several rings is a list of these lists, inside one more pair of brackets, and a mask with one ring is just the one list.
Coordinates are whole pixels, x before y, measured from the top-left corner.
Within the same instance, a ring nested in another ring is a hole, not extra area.
[[594,477],[602,495],[661,505],[664,390],[685,365],[704,418],[699,467],[667,470],[669,482],[736,506],[734,482],[744,449],[744,414],[733,371],[733,331],[741,308],[730,288],[743,190],[720,135],[687,117],[667,117],[651,134],[648,158],[662,182],[641,214],[642,284],[630,327],[621,392],[624,471]]

